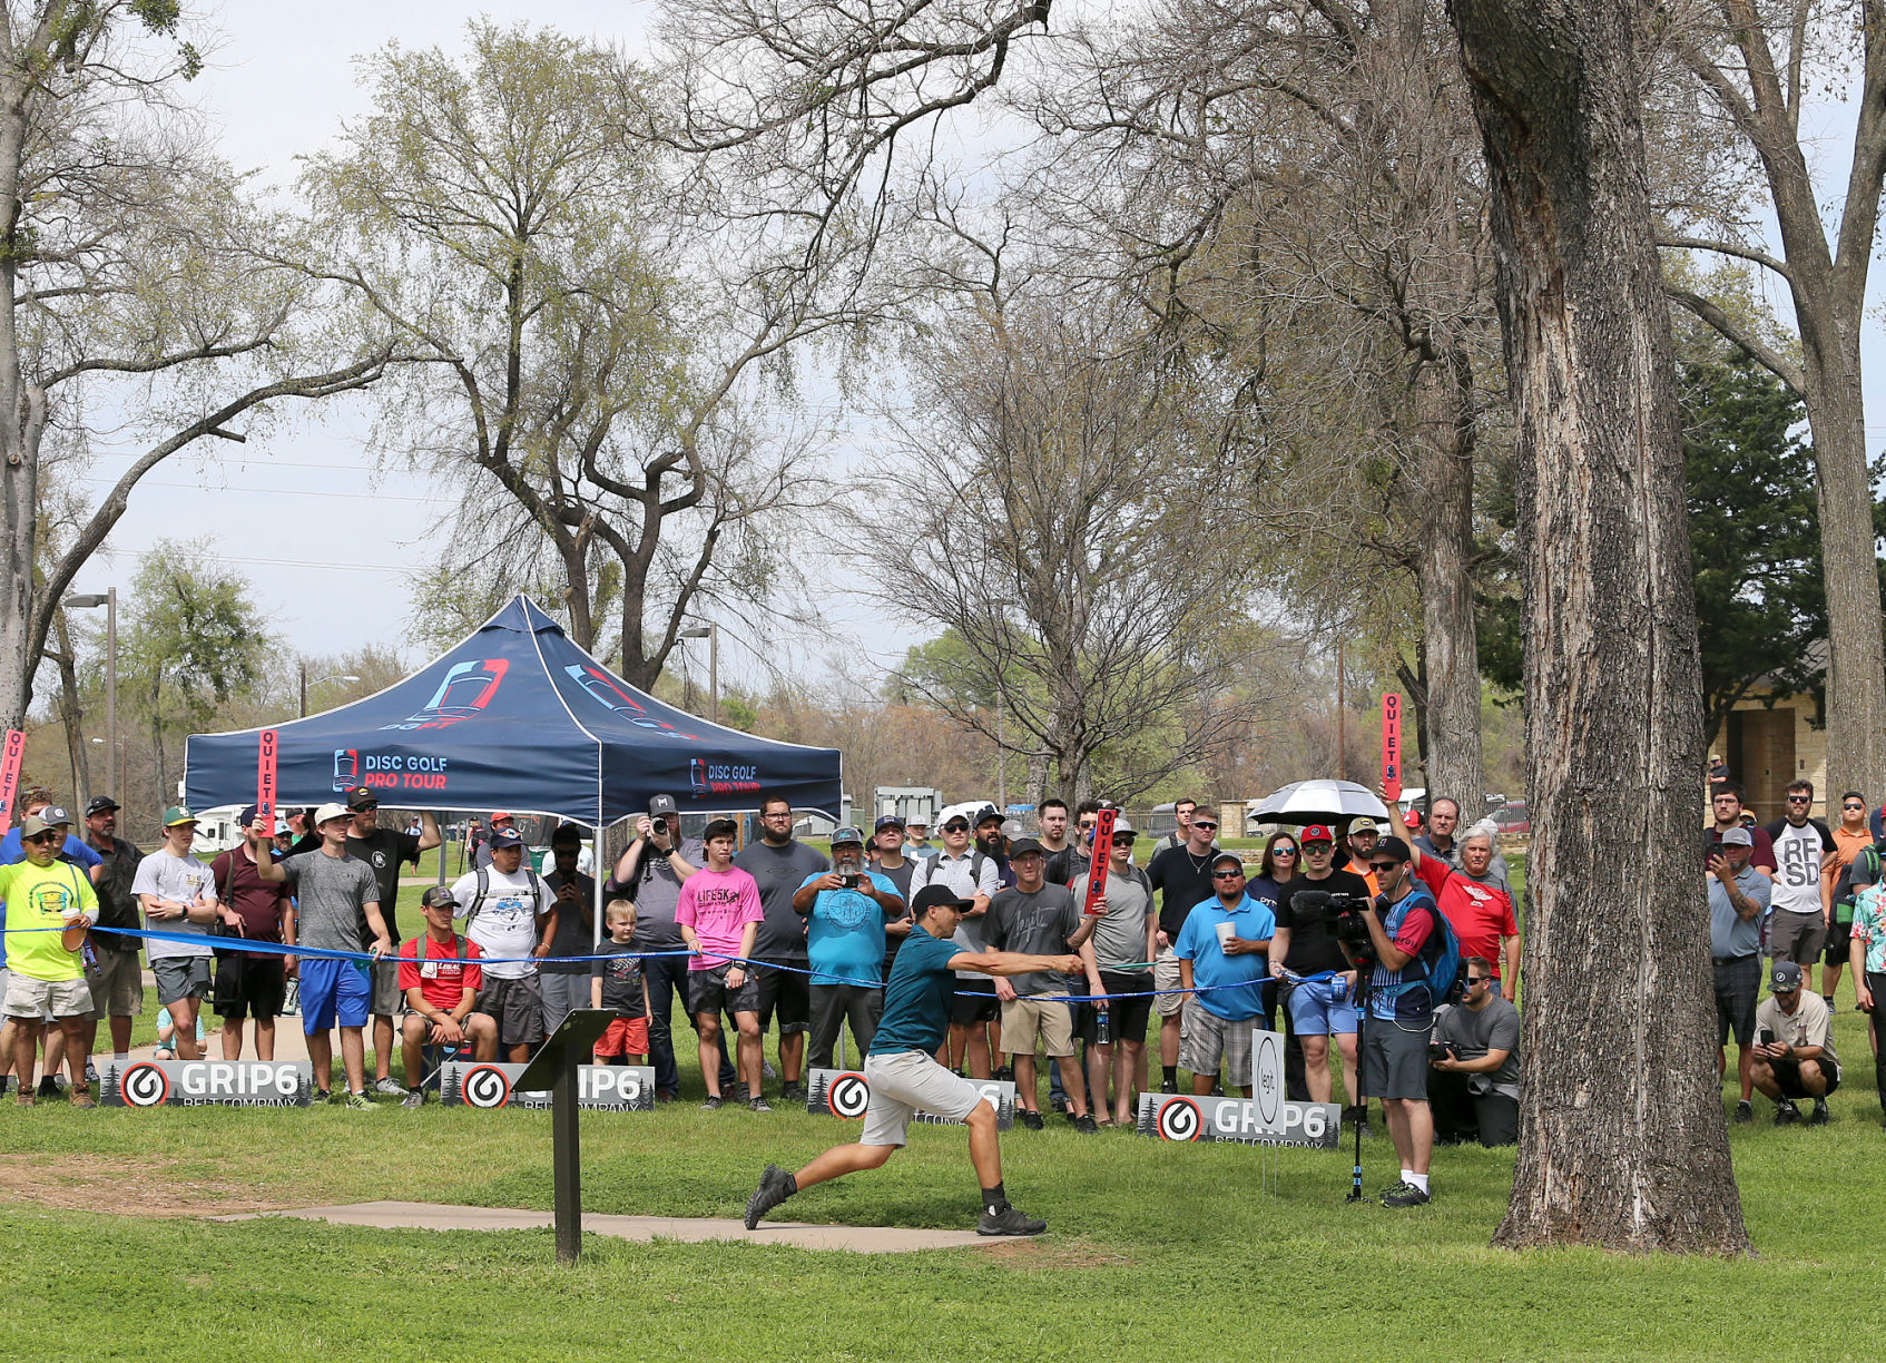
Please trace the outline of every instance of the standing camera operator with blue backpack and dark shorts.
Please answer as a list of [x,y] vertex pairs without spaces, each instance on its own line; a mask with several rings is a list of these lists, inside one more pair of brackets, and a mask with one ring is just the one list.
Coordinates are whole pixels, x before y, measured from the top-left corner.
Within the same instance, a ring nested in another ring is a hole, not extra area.
[[1343,954],[1369,969],[1364,997],[1367,1026],[1362,1041],[1364,1090],[1382,1099],[1388,1135],[1401,1158],[1401,1182],[1382,1191],[1382,1207],[1420,1207],[1430,1201],[1428,1161],[1433,1156],[1433,1112],[1428,1108],[1428,1033],[1435,999],[1428,992],[1424,956],[1439,944],[1433,895],[1409,865],[1409,845],[1384,837],[1369,865],[1382,894],[1362,914],[1367,946],[1337,929]]

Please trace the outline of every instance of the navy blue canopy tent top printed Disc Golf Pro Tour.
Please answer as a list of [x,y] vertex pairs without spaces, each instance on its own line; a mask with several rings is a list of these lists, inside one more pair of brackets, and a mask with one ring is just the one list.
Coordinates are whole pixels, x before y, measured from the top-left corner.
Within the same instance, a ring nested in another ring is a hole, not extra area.
[[[185,801],[249,803],[260,730],[192,735]],[[277,726],[285,805],[368,786],[405,809],[509,809],[602,829],[675,797],[683,813],[839,811],[839,754],[707,724],[598,664],[528,598],[377,696]],[[602,843],[598,839],[598,869]],[[598,877],[602,879],[602,877]]]

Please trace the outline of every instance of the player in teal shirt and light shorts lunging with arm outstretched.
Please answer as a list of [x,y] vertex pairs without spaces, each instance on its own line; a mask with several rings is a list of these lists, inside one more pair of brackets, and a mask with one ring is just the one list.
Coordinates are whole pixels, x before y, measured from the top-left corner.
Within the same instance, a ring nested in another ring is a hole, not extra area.
[[864,1058],[864,1078],[871,1101],[864,1108],[864,1135],[854,1144],[834,1146],[796,1174],[768,1165],[760,1188],[747,1199],[747,1229],[802,1188],[828,1178],[877,1169],[905,1142],[911,1116],[918,1108],[969,1127],[969,1163],[983,1190],[977,1235],[1041,1235],[1047,1222],[1009,1207],[1001,1190],[1001,1148],[996,1142],[996,1108],[973,1082],[935,1061],[935,1050],[949,1035],[949,1003],[956,988],[952,971],[981,975],[1028,975],[1066,971],[1079,975],[1079,956],[1026,956],[1022,952],[966,952],[951,941],[971,899],[958,899],[949,886],[930,884],[917,892],[911,914],[917,926],[903,941],[890,984],[885,990],[885,1016]]

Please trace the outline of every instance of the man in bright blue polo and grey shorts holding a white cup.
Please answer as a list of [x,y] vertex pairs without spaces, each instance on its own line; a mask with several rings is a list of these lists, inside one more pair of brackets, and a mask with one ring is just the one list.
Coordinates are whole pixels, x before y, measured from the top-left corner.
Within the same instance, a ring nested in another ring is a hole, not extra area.
[[1250,1097],[1250,1024],[1264,1016],[1277,918],[1245,894],[1245,863],[1237,852],[1211,858],[1211,888],[1213,897],[1192,907],[1173,943],[1179,988],[1198,990],[1184,1001],[1179,1063],[1192,1071],[1192,1092],[1205,1095],[1218,1080],[1222,1059],[1230,1082]]

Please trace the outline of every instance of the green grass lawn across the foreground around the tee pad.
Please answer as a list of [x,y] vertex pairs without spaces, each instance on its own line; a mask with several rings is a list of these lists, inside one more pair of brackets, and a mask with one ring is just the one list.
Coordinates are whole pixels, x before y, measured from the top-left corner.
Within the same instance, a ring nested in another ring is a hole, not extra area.
[[[683,1029],[681,1037],[688,1033]],[[421,1199],[551,1205],[549,1116],[428,1107],[0,1108],[0,1169],[96,1210],[0,1201],[0,1252],[28,1271],[0,1301],[8,1357],[194,1359],[896,1359],[1497,1357],[1720,1359],[1782,1303],[1818,1355],[1871,1352],[1886,1327],[1878,1237],[1886,1137],[1852,1010],[1850,1088],[1822,1129],[1731,1127],[1752,1259],[1488,1248],[1511,1152],[1447,1148],[1431,1207],[1343,1205],[1348,1154],[1175,1146],[1064,1124],[1003,1141],[1015,1201],[1043,1240],[915,1256],[588,1237],[573,1271],[543,1233],[366,1231],[113,1214],[151,1199],[315,1205]],[[687,1090],[700,1093],[692,1065]],[[856,1127],[805,1112],[687,1105],[587,1114],[585,1207],[734,1216],[766,1159],[796,1167]],[[57,1154],[55,1154],[57,1152]],[[1365,1142],[1367,1190],[1394,1180]],[[55,1199],[58,1201],[58,1199]],[[206,1210],[221,1210],[217,1205]],[[875,1174],[809,1190],[811,1222],[968,1229],[964,1137],[915,1127]],[[66,1269],[58,1269],[66,1265]]]

